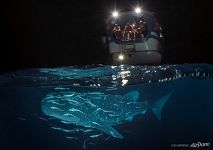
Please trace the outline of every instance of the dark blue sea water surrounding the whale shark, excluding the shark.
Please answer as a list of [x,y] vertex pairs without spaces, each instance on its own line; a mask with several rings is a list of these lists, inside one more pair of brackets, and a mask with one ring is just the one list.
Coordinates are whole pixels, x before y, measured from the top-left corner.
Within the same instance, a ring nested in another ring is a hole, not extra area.
[[[158,120],[150,110],[113,126],[124,138],[45,115],[51,92],[101,92],[155,102],[173,91]],[[213,65],[34,68],[0,75],[0,150],[211,149]],[[88,132],[87,132],[88,131]],[[185,145],[183,145],[185,144]]]

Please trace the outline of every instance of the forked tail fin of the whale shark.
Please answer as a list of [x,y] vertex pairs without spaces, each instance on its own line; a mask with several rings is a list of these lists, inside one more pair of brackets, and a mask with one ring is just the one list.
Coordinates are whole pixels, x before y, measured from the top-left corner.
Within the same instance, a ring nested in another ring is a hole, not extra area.
[[152,111],[158,118],[158,120],[161,120],[161,111],[167,100],[170,98],[174,91],[169,92],[167,95],[161,97],[159,100],[157,100],[154,104],[152,104]]

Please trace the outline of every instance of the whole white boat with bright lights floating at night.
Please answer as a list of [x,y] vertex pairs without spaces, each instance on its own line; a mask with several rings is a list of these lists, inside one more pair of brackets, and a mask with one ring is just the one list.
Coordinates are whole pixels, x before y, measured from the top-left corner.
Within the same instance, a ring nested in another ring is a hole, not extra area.
[[113,64],[160,64],[162,27],[154,12],[136,8],[106,19],[106,44]]

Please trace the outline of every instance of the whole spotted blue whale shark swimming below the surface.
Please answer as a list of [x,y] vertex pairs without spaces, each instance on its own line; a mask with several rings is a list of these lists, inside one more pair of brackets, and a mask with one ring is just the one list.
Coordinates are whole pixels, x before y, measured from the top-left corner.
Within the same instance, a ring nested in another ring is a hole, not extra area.
[[63,122],[98,129],[115,138],[123,136],[112,126],[132,121],[137,114],[152,110],[157,119],[172,92],[153,103],[138,101],[139,92],[130,91],[124,95],[102,92],[77,93],[57,91],[47,94],[41,102],[42,112]]

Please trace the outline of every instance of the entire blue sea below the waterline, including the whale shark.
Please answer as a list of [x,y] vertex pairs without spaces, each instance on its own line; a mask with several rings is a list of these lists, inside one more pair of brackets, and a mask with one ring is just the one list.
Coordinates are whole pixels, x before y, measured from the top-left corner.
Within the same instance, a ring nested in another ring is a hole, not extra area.
[[213,65],[0,74],[0,149],[211,149]]

